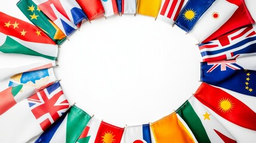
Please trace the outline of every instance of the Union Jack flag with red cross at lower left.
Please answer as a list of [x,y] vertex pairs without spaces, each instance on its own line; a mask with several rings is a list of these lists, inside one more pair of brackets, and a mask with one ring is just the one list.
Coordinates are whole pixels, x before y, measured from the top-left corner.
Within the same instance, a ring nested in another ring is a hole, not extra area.
[[59,82],[32,95],[27,101],[42,130],[47,129],[69,108]]

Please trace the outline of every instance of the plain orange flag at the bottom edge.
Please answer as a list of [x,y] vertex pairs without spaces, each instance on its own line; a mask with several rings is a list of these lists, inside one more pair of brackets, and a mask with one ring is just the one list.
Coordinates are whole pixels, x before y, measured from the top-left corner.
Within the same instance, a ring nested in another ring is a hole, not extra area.
[[150,125],[156,142],[195,142],[189,130],[180,122],[176,113]]

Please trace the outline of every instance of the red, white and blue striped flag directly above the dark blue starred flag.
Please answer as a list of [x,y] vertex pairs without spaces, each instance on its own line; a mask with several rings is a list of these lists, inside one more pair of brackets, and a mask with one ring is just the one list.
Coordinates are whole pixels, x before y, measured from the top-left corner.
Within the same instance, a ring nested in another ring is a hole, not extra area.
[[[254,24],[255,26],[255,24]],[[254,26],[237,29],[207,43],[199,44],[203,61],[229,60],[256,54],[256,32]]]

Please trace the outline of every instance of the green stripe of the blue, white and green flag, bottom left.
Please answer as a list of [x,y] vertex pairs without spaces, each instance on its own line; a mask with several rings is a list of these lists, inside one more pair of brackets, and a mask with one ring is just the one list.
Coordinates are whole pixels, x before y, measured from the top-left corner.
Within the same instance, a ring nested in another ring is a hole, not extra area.
[[67,116],[66,142],[76,142],[90,119],[89,114],[74,105]]

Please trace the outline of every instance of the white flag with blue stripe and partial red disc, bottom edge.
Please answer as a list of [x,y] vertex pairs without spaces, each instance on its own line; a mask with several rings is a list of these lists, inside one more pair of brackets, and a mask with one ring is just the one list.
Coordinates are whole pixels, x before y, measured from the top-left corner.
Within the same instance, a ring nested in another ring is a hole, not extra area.
[[138,126],[126,126],[122,141],[124,141],[124,143],[130,143],[130,142],[151,143],[149,124],[138,125]]

